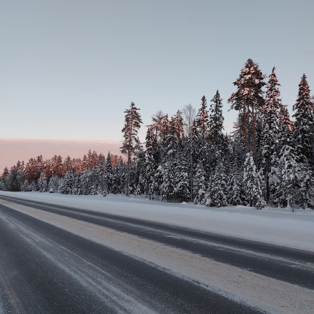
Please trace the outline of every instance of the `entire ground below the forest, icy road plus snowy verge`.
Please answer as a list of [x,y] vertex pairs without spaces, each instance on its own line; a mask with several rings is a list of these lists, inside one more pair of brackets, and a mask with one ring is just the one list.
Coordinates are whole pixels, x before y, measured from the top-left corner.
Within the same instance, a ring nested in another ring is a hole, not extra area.
[[3,313],[312,313],[312,210],[0,192]]

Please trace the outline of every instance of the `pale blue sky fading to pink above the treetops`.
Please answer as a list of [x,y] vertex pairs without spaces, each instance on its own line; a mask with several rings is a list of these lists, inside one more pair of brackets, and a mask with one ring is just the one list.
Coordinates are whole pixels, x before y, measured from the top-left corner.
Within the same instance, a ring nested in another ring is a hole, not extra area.
[[0,171],[52,148],[118,152],[131,101],[144,140],[156,111],[198,109],[219,89],[230,132],[227,100],[248,58],[266,75],[276,67],[292,114],[303,73],[314,91],[313,16],[307,0],[2,1]]

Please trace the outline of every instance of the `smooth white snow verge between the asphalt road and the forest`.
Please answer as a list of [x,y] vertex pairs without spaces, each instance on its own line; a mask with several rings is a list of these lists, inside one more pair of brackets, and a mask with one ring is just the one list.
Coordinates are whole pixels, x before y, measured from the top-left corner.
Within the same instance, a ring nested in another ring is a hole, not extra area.
[[314,251],[314,211],[289,208],[227,206],[208,208],[191,203],[162,203],[108,195],[62,195],[39,192],[3,192],[16,198],[71,206],[179,225],[249,240]]

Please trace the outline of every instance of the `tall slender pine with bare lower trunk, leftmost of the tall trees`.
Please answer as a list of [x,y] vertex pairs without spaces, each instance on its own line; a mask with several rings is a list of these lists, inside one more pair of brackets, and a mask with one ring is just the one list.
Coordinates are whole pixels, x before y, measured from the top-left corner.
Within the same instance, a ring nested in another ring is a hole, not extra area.
[[129,196],[130,190],[130,167],[131,157],[134,153],[134,143],[138,143],[138,129],[141,127],[142,119],[138,113],[139,108],[136,108],[131,102],[130,109],[124,111],[125,125],[122,129],[124,142],[122,143],[121,153],[127,156],[127,173],[126,173],[126,196]]

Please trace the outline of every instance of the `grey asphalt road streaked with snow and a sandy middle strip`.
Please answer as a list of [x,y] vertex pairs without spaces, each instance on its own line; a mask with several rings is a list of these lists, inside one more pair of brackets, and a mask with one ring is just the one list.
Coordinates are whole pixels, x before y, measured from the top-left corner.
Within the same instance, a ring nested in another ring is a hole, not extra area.
[[314,253],[0,196],[0,313],[313,313]]

